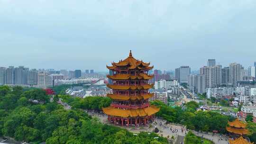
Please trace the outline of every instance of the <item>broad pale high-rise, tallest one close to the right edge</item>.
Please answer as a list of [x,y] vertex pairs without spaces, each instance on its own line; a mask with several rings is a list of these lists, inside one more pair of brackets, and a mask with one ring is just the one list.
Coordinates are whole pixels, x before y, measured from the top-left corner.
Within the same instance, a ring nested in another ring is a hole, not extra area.
[[230,63],[229,65],[229,81],[234,86],[238,85],[238,81],[242,80],[242,65],[239,63]]

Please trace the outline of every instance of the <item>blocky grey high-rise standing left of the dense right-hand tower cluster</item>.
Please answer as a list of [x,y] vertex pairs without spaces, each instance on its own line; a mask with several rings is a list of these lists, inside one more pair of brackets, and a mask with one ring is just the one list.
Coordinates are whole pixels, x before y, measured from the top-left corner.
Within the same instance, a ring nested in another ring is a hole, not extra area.
[[175,79],[179,83],[188,83],[188,76],[190,75],[189,66],[181,66],[180,68],[175,69]]

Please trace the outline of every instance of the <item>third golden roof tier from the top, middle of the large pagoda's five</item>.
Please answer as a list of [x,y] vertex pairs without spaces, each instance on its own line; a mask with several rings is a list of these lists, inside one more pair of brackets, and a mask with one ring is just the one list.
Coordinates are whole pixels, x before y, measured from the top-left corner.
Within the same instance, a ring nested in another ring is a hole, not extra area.
[[111,84],[107,84],[107,87],[109,87],[110,89],[114,89],[114,90],[145,90],[145,89],[151,89],[153,88],[154,84],[146,84],[146,85],[132,85],[132,86],[128,86],[128,85],[111,85]]

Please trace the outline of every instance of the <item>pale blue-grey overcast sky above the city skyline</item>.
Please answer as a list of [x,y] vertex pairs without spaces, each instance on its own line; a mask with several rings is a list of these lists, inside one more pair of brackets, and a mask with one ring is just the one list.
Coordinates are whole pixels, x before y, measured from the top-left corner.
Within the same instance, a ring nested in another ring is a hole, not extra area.
[[156,69],[256,61],[256,0],[0,0],[0,66]]

